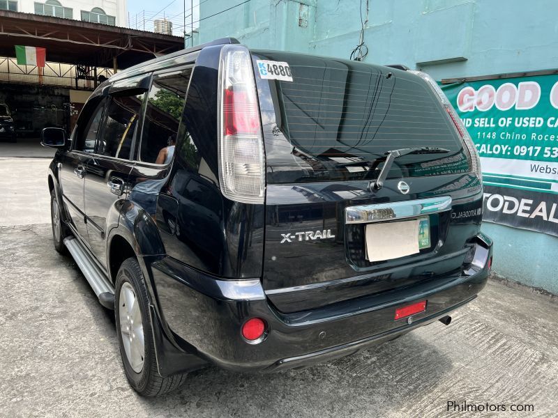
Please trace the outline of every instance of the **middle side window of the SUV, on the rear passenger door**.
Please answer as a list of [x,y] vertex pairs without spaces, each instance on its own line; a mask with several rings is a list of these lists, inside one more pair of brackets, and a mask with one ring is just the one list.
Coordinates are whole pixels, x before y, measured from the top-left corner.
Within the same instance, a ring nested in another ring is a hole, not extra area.
[[145,94],[112,96],[107,106],[105,126],[97,141],[96,153],[109,157],[130,158],[132,139]]

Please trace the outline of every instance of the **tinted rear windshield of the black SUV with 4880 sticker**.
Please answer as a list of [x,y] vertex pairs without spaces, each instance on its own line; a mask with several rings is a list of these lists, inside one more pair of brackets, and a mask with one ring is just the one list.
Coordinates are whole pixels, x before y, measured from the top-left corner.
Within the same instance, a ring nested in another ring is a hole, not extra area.
[[[372,180],[387,152],[414,147],[443,150],[399,157],[388,178],[469,171],[446,111],[415,75],[303,54],[252,56],[268,183]],[[288,63],[292,82],[262,79],[258,60]]]

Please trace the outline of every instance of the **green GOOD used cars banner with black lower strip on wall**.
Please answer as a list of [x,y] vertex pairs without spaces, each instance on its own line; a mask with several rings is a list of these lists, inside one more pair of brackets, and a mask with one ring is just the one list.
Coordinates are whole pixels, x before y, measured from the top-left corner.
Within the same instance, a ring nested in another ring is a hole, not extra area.
[[481,156],[483,219],[558,236],[558,75],[441,87]]

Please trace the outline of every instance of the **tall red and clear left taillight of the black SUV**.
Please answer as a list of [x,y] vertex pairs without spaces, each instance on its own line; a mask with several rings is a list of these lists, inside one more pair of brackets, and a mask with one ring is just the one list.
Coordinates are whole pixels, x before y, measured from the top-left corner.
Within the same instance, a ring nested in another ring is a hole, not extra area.
[[264,141],[248,49],[225,45],[219,74],[221,191],[234,201],[264,203]]

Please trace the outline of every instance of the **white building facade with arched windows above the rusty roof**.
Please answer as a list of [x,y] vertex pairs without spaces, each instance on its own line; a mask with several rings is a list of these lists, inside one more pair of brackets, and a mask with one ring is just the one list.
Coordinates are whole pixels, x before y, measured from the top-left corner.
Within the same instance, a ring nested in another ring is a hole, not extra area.
[[0,10],[126,26],[126,0],[0,0]]

